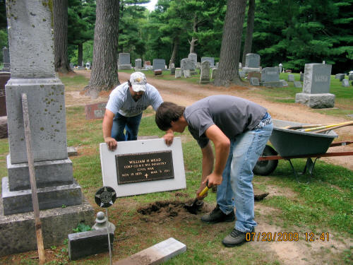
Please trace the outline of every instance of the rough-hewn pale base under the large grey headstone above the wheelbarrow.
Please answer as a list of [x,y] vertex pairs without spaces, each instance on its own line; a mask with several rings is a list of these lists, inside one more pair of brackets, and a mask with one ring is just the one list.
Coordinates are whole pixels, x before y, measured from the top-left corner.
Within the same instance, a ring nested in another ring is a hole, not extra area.
[[313,109],[324,109],[326,107],[335,106],[335,95],[330,93],[322,93],[322,94],[297,93],[295,95],[295,102],[304,104]]

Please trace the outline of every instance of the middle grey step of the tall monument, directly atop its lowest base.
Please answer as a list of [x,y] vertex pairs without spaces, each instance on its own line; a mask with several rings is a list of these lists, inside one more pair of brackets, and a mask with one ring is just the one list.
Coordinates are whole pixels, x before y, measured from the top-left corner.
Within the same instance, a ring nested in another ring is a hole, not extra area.
[[[40,210],[72,206],[82,203],[80,185],[74,183],[56,187],[37,189]],[[33,211],[32,191],[23,189],[11,192],[8,187],[8,177],[2,178],[2,201],[4,215]]]

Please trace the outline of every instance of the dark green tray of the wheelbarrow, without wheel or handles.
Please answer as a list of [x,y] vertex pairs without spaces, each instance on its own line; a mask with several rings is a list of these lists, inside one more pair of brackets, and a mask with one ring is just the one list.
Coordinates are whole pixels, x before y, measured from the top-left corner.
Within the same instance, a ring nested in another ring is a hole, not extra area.
[[315,134],[309,131],[283,129],[285,126],[300,125],[308,124],[273,119],[270,142],[282,157],[326,153],[333,139],[337,137],[335,131],[329,131],[328,134]]

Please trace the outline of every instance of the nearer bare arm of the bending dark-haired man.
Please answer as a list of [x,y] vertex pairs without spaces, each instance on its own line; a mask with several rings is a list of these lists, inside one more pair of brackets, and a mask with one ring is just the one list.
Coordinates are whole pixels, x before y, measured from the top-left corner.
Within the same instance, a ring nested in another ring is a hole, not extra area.
[[205,135],[215,144],[215,169],[203,181],[205,184],[208,180],[208,187],[211,187],[222,183],[222,173],[227,164],[230,141],[215,124],[205,131]]

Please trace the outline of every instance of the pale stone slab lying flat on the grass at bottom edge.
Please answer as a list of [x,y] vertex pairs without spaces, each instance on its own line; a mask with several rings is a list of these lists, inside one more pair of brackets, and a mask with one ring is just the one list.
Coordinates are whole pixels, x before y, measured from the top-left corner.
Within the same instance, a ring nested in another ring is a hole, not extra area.
[[148,249],[143,249],[126,259],[116,261],[113,265],[157,265],[184,252],[186,252],[186,245],[175,240],[173,237],[170,237],[167,240],[153,245],[152,247],[148,247]]

